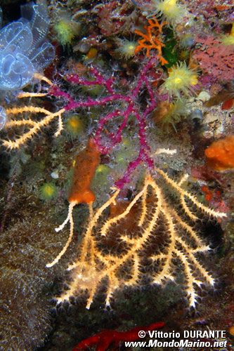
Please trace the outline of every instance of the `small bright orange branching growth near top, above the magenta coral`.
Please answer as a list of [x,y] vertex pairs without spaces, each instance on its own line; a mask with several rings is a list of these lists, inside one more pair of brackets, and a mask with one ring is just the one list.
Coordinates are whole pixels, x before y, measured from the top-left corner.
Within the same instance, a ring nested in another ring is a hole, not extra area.
[[159,37],[162,33],[162,27],[167,24],[167,22],[162,22],[160,25],[156,19],[148,20],[148,27],[145,26],[146,34],[142,33],[140,30],[136,29],[135,33],[143,37],[143,39],[138,40],[138,46],[135,48],[135,53],[138,53],[143,48],[146,48],[146,56],[150,57],[150,50],[156,49],[158,52],[158,59],[162,65],[167,64],[167,60],[162,57],[162,47],[164,44],[160,41]]

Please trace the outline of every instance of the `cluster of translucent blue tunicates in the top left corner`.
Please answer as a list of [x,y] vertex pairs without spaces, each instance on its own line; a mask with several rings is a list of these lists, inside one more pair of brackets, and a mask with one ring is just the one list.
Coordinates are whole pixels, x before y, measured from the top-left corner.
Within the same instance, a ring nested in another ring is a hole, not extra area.
[[20,20],[0,30],[0,90],[26,86],[55,55],[53,46],[46,41],[46,7],[31,2],[21,6],[21,15]]

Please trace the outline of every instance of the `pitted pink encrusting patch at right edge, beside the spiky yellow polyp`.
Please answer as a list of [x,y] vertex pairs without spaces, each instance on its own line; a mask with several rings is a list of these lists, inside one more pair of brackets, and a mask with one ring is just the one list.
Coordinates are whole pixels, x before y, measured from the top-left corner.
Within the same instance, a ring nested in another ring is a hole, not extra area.
[[222,81],[234,78],[234,51],[231,46],[223,46],[219,39],[212,36],[197,38],[197,43],[202,44],[193,52],[193,59],[200,63],[203,72],[212,74]]

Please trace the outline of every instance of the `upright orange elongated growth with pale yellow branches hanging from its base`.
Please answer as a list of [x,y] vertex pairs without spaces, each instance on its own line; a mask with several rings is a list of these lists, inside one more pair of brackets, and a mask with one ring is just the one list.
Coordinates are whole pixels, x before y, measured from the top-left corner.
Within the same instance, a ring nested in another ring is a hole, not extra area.
[[90,139],[86,148],[77,154],[69,202],[90,204],[95,200],[95,194],[91,191],[90,185],[99,163],[100,152],[93,139]]

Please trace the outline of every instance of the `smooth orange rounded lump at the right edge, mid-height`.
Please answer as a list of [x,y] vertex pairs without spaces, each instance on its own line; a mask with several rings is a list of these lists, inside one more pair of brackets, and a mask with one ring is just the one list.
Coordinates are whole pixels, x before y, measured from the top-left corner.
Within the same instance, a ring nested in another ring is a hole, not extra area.
[[208,165],[216,171],[227,171],[234,169],[234,135],[214,141],[204,154]]

